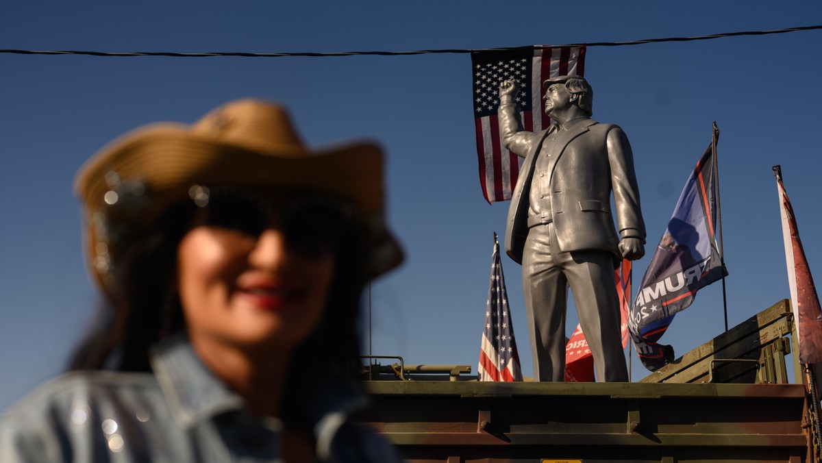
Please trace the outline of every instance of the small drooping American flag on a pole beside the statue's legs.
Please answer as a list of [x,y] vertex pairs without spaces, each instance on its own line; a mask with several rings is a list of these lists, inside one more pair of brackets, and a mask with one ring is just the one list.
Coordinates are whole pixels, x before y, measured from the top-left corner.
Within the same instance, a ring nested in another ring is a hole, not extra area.
[[491,284],[485,310],[483,343],[479,350],[480,381],[522,381],[520,354],[516,350],[514,325],[511,322],[506,294],[506,279],[502,275],[500,243],[494,239],[491,257]]

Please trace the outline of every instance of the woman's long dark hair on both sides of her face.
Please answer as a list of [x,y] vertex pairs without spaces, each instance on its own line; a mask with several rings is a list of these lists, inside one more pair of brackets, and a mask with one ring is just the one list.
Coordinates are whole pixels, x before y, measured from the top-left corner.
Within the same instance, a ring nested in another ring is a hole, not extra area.
[[[150,347],[185,330],[177,291],[177,248],[195,224],[196,206],[171,207],[118,258],[109,299],[101,305],[95,329],[76,346],[70,370],[151,371]],[[351,225],[340,237],[322,320],[293,351],[292,359],[298,361],[291,362],[289,384],[311,377],[312,371],[344,377],[356,371],[359,306],[367,283],[366,236],[358,225]]]

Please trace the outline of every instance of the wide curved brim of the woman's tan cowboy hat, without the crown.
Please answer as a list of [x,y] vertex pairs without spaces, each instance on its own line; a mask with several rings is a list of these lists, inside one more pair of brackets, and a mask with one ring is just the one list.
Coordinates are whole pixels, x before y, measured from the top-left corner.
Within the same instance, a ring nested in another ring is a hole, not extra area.
[[[192,184],[327,193],[351,202],[359,219],[371,228],[372,262],[367,262],[367,272],[376,277],[403,259],[382,216],[382,169],[381,148],[367,141],[311,152],[289,146],[252,150],[204,137],[187,125],[155,123],[129,132],[100,150],[81,168],[75,191],[84,199],[86,220],[90,220],[104,207],[104,196],[111,189],[106,181],[109,172],[145,182],[152,203],[142,216],[145,221],[184,200]],[[85,229],[91,263],[99,237],[94,227]],[[105,287],[103,275],[94,272]]]

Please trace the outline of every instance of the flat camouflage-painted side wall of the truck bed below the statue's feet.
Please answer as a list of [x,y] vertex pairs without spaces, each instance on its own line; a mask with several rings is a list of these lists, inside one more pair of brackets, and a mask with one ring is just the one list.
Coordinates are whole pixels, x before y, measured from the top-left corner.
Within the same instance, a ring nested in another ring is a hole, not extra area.
[[370,382],[409,461],[809,461],[795,384]]

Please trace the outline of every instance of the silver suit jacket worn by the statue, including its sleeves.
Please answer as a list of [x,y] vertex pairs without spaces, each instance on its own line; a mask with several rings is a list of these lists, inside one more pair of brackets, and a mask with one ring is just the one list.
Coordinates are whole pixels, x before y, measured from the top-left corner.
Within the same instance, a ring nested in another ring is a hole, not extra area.
[[603,250],[613,253],[615,263],[621,262],[611,192],[621,238],[640,238],[644,242],[633,154],[620,127],[585,118],[551,139],[548,136],[556,127],[538,133],[521,132],[514,104],[501,105],[499,115],[506,147],[525,158],[506,224],[506,252],[511,259],[522,263],[537,155],[551,156],[547,171],[552,207],[544,214],[551,214],[561,251]]

